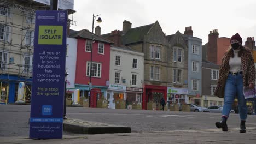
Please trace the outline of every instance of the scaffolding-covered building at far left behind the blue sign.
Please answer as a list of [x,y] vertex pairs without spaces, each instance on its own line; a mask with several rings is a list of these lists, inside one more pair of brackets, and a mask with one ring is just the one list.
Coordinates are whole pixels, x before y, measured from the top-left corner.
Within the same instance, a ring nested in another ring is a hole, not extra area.
[[[32,0],[0,1],[0,103],[8,103],[10,83],[16,83],[18,88],[17,83],[24,82],[25,95],[31,94],[36,10],[49,8],[49,5]],[[73,21],[75,11],[67,11],[72,14],[68,25],[76,25]],[[15,89],[15,93],[17,91]]]

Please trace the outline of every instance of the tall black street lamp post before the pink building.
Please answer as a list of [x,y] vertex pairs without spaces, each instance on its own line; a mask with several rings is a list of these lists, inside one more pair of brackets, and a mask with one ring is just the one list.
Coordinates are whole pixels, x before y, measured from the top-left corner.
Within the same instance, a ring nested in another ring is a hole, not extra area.
[[[92,15],[92,31],[91,31],[91,61],[90,61],[90,81],[89,81],[89,92],[91,92],[91,87],[92,87],[92,83],[91,83],[91,63],[92,63],[92,50],[94,47],[94,21],[95,19],[98,17],[97,22],[101,23],[101,14],[99,15]],[[91,93],[90,93],[91,94]],[[91,96],[91,95],[90,95]],[[90,97],[89,97],[89,107],[90,107]]]

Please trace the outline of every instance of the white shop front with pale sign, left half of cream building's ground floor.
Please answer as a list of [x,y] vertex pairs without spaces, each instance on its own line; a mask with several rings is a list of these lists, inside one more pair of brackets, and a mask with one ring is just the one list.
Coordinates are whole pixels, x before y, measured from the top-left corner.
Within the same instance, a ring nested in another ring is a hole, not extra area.
[[108,108],[115,109],[115,103],[126,100],[126,86],[110,84],[107,92]]

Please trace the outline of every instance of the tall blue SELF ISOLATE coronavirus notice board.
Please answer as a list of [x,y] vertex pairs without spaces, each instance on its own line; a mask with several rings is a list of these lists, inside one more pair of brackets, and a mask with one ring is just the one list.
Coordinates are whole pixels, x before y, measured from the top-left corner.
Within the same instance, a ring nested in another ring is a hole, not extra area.
[[67,11],[36,11],[30,139],[62,139],[66,33]]

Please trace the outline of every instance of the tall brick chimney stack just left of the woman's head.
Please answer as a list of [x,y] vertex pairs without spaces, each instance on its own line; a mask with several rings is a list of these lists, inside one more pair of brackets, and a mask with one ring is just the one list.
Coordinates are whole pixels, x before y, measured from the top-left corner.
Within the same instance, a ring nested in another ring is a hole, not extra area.
[[217,39],[219,38],[218,29],[213,29],[208,35],[207,60],[217,64]]

